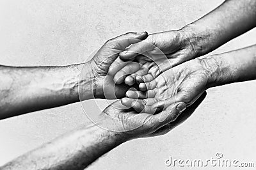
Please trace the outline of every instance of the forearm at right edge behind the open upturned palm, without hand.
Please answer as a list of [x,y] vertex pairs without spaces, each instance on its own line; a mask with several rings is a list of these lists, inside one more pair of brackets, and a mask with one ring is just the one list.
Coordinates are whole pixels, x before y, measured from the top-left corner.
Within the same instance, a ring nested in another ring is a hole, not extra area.
[[256,79],[256,45],[202,60],[210,68],[209,87]]

